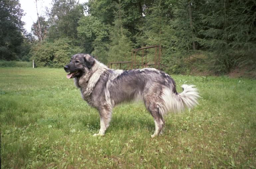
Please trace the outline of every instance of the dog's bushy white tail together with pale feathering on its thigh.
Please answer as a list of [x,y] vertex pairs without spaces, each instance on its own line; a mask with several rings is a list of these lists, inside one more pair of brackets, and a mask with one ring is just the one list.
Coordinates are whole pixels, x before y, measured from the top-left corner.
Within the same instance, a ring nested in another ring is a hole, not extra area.
[[185,108],[192,108],[198,104],[197,98],[199,98],[198,89],[194,85],[182,86],[183,91],[181,93],[174,93],[170,89],[164,89],[162,99],[164,104],[160,111],[163,116],[167,112],[181,112]]

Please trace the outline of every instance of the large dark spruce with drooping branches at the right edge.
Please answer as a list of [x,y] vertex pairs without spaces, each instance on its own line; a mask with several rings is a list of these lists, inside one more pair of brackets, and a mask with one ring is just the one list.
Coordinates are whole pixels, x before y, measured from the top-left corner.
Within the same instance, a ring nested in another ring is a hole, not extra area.
[[202,28],[197,38],[214,53],[211,68],[216,73],[229,72],[239,63],[255,63],[255,1],[206,1],[200,14]]

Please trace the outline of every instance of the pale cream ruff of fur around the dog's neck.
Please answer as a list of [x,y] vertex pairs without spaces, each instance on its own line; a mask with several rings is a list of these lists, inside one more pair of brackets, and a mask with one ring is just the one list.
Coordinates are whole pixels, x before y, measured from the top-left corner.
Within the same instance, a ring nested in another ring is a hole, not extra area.
[[80,78],[74,79],[76,86],[81,90],[81,95],[84,100],[88,101],[90,99],[93,88],[99,81],[102,73],[108,69],[109,68],[106,65],[95,60],[95,64],[88,73]]

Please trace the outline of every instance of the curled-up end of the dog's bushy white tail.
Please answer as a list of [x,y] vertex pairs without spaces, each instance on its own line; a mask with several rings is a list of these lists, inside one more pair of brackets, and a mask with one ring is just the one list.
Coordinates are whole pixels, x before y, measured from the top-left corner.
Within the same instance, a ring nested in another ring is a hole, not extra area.
[[[192,108],[198,104],[197,98],[200,97],[198,93],[198,89],[195,88],[195,85],[186,85],[183,84],[182,92],[178,93],[176,96],[178,97],[178,101],[182,101],[181,108],[178,108],[178,111],[184,110],[185,107]],[[178,104],[179,105],[179,104]]]

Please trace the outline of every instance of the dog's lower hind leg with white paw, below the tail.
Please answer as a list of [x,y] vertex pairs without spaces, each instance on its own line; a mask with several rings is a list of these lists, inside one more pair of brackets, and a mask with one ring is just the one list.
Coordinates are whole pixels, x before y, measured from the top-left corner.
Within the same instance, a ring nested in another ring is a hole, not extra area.
[[156,103],[145,102],[145,106],[154,119],[155,132],[153,133],[153,135],[151,135],[151,137],[153,138],[159,134],[162,134],[162,128],[164,127],[165,122],[162,115],[160,114],[159,105],[156,105]]

